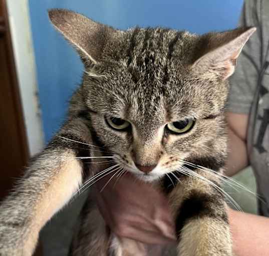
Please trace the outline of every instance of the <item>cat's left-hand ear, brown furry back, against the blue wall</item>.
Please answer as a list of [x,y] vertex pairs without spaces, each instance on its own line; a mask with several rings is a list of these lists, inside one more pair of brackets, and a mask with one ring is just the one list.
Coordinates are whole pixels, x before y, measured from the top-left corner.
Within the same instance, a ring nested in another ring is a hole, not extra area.
[[84,64],[96,64],[104,45],[116,30],[65,9],[51,9],[54,27],[75,47]]

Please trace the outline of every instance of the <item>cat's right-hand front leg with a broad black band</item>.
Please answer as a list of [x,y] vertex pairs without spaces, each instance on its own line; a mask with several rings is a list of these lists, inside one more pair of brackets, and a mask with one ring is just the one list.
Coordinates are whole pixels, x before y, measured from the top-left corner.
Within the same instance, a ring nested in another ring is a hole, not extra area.
[[169,195],[178,255],[231,256],[227,206],[219,181],[213,174],[196,173],[204,178],[184,176]]

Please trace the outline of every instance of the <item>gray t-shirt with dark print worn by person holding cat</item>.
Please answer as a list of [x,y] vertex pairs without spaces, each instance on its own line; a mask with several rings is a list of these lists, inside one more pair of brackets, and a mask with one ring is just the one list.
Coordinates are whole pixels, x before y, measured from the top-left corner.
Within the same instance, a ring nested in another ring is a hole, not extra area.
[[239,26],[255,26],[230,79],[228,111],[249,115],[247,151],[259,214],[269,216],[269,0],[246,0]]

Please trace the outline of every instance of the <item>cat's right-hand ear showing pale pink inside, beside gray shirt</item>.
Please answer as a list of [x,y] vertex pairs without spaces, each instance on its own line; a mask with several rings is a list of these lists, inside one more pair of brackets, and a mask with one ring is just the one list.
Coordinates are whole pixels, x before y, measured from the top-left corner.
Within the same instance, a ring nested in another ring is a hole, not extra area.
[[[227,79],[234,72],[236,60],[256,28],[238,28],[201,37],[200,57],[191,66],[193,72],[204,78]],[[201,49],[202,48],[202,49]]]

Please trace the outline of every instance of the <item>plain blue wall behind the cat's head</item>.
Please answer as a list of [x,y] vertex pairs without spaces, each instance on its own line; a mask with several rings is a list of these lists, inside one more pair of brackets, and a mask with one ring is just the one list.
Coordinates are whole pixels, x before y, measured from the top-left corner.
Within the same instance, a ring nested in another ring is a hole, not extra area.
[[46,142],[64,120],[80,84],[79,57],[49,23],[47,10],[67,8],[127,29],[164,26],[198,34],[236,27],[243,0],[29,0]]

